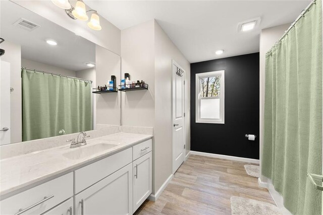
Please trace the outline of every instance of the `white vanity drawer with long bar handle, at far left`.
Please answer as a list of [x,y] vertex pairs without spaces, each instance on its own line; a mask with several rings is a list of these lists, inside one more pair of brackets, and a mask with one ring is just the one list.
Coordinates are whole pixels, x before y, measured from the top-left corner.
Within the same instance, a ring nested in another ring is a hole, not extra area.
[[16,214],[26,209],[21,214],[40,214],[72,196],[73,173],[69,173],[0,201],[0,213]]

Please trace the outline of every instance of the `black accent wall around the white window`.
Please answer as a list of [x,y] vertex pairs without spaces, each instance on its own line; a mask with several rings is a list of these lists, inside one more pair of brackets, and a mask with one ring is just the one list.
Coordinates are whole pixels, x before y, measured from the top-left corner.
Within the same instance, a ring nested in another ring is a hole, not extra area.
[[[218,70],[225,70],[225,124],[196,123],[195,74]],[[259,159],[259,53],[191,63],[191,150]]]

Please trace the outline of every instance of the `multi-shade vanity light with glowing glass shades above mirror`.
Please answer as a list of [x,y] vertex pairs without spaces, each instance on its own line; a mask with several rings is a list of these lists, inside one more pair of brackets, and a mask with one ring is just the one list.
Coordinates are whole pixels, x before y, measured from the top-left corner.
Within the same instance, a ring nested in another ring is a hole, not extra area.
[[[56,6],[61,7],[62,5],[60,4],[66,4],[68,3],[70,5],[70,8],[68,8],[66,6],[65,9],[66,14],[71,18],[71,19],[79,19],[82,21],[87,21],[89,19],[89,17],[87,16],[86,13],[88,12],[93,12],[91,15],[91,19],[90,21],[87,23],[87,26],[93,30],[99,31],[102,29],[102,27],[100,26],[100,17],[97,14],[97,11],[95,10],[89,10],[86,11],[86,5],[84,4],[83,0],[77,0],[75,8],[71,6],[70,4],[70,0],[51,0],[53,4],[55,4]],[[60,4],[59,4],[60,3]]]

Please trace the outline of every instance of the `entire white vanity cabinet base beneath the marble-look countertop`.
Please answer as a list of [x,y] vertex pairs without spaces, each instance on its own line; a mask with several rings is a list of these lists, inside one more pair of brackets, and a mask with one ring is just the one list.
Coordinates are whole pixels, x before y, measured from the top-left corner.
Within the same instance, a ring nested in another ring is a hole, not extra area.
[[132,215],[151,194],[151,149],[148,139],[5,198],[0,214]]

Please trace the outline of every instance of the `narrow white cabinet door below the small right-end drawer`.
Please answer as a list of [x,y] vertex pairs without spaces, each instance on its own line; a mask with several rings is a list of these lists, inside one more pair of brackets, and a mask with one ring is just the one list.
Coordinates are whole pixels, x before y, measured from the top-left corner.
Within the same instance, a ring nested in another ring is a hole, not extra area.
[[151,152],[133,162],[133,211],[151,194],[152,183]]

